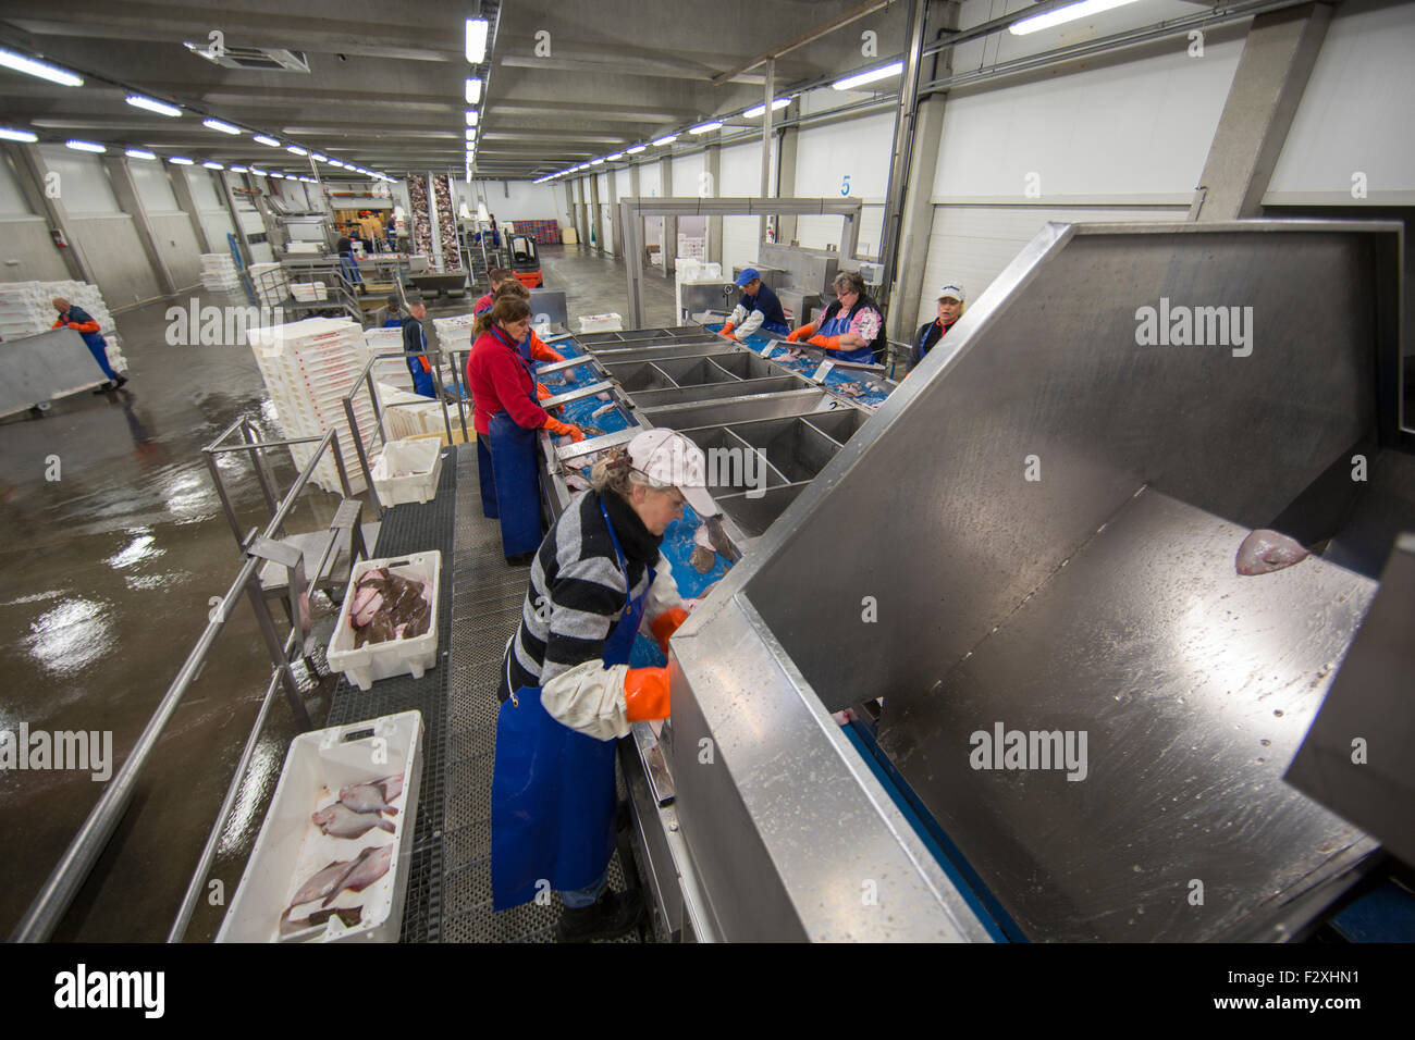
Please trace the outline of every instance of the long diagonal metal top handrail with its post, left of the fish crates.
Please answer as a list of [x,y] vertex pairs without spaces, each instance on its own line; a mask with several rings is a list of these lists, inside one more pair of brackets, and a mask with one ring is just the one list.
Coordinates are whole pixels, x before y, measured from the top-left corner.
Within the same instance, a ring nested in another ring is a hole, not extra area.
[[[221,439],[228,437],[238,424],[239,420],[228,426]],[[284,498],[280,501],[275,515],[265,528],[262,535],[263,538],[276,538],[279,535],[286,518],[294,508],[296,498],[310,481],[314,468],[324,457],[324,451],[331,446],[334,449],[334,458],[338,466],[340,475],[347,487],[348,478],[344,473],[344,463],[338,447],[338,434],[334,430],[330,430],[320,439],[320,446],[314,451],[314,456],[308,463],[306,463],[299,477],[296,477],[294,484],[290,487],[290,491],[287,491]],[[11,942],[44,942],[54,934],[54,930],[58,927],[64,914],[72,904],[74,897],[92,873],[93,865],[98,862],[103,849],[108,846],[109,839],[113,836],[113,831],[123,818],[127,804],[133,797],[133,791],[137,787],[139,774],[147,765],[147,760],[157,747],[158,737],[161,737],[167,723],[171,722],[171,717],[175,713],[177,706],[181,703],[183,696],[185,696],[187,689],[205,666],[207,655],[211,652],[211,647],[215,644],[222,628],[225,628],[232,604],[241,596],[246,596],[250,600],[252,607],[256,611],[256,621],[260,625],[263,638],[266,640],[267,649],[270,649],[272,657],[279,657],[282,662],[275,668],[272,683],[279,682],[284,685],[286,693],[291,700],[291,709],[296,712],[296,717],[300,722],[301,729],[310,729],[308,712],[304,707],[304,702],[300,699],[294,675],[290,672],[289,658],[286,657],[289,651],[282,648],[279,637],[275,634],[275,621],[270,617],[265,596],[260,591],[258,572],[262,563],[263,560],[260,557],[250,553],[246,555],[245,562],[241,565],[241,570],[236,572],[235,580],[231,583],[226,594],[221,597],[221,603],[212,608],[207,628],[198,637],[197,644],[187,655],[187,659],[178,669],[177,676],[171,681],[171,685],[163,695],[161,702],[158,702],[157,709],[147,720],[147,726],[143,727],[143,733],[139,736],[132,753],[123,761],[123,765],[117,770],[113,780],[103,790],[98,804],[89,812],[83,825],[69,842],[68,849],[65,849],[64,856],[59,859],[58,865],[40,889],[40,894],[30,904],[30,908],[20,920],[20,924],[16,925],[16,930],[10,935]],[[289,645],[289,638],[286,640],[286,645]],[[263,722],[263,713],[260,720]]]

